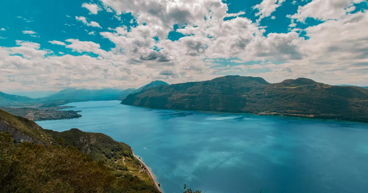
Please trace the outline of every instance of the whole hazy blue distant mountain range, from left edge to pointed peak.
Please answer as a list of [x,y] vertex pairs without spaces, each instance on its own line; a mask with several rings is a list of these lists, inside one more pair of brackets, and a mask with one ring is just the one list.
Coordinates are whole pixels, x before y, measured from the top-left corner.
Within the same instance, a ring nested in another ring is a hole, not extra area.
[[163,81],[153,81],[148,85],[144,85],[139,89],[100,89],[100,90],[88,90],[88,89],[75,89],[68,88],[60,90],[59,92],[52,94],[48,97],[32,99],[25,96],[17,96],[14,94],[6,94],[0,92],[0,106],[32,106],[37,105],[40,107],[53,107],[71,102],[80,101],[99,101],[99,100],[123,100],[131,93],[142,92],[148,88],[169,85]]

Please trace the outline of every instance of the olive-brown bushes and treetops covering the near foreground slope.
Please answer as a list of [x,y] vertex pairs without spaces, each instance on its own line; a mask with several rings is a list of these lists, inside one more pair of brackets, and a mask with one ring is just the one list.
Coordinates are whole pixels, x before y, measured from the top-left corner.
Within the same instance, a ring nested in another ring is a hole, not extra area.
[[76,147],[15,144],[0,132],[0,192],[157,192],[131,175],[116,179],[112,168]]

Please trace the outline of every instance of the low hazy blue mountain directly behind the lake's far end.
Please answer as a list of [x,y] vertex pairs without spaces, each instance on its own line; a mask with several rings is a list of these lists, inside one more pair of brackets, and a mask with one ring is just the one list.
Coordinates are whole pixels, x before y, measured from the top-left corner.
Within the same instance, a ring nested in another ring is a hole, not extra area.
[[72,100],[116,100],[122,90],[118,89],[102,89],[102,90],[87,90],[87,89],[64,89],[56,94],[52,94],[46,99],[72,99]]

